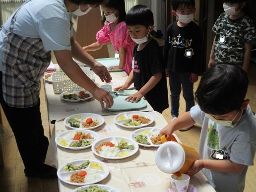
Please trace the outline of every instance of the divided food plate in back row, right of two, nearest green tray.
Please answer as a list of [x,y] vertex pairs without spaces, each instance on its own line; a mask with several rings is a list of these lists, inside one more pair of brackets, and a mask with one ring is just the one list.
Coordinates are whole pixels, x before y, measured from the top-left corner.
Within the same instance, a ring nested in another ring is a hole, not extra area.
[[142,128],[154,122],[154,118],[145,112],[130,111],[116,115],[114,122],[123,128]]

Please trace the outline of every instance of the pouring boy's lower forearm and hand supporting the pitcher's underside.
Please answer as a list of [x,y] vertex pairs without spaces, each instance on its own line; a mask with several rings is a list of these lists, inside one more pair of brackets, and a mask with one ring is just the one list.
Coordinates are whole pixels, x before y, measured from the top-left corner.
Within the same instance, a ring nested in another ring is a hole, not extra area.
[[188,175],[194,175],[202,168],[210,169],[212,171],[218,171],[222,173],[240,173],[245,168],[245,165],[235,163],[226,160],[214,160],[214,159],[199,159],[194,162],[192,167],[188,171]]

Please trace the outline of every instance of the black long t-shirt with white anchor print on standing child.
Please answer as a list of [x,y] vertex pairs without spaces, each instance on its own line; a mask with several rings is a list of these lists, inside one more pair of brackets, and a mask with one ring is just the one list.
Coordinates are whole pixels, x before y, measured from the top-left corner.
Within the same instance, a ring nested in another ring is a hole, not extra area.
[[201,31],[193,21],[185,27],[171,23],[164,45],[165,67],[174,72],[202,72],[201,45]]

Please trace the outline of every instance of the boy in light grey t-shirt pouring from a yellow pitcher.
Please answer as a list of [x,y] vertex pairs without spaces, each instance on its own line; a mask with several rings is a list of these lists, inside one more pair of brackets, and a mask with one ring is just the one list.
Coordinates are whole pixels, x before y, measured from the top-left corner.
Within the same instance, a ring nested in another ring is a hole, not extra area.
[[188,175],[202,169],[217,192],[243,192],[246,172],[254,165],[256,121],[249,99],[247,73],[235,65],[219,64],[202,76],[195,92],[198,105],[160,132],[170,138],[175,130],[194,123],[202,126],[199,160]]

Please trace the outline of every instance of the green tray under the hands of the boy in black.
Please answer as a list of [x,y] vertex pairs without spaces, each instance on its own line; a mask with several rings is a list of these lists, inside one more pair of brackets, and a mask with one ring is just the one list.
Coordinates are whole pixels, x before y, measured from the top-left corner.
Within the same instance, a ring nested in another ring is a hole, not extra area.
[[[118,92],[118,91],[117,91]],[[136,90],[124,90],[123,93],[136,93]],[[120,92],[120,93],[122,93]],[[108,111],[128,111],[128,110],[135,110],[135,109],[141,109],[147,106],[145,100],[142,98],[137,103],[130,103],[125,100],[125,98],[128,97],[128,95],[125,96],[115,96],[113,93],[111,94],[114,99],[114,105],[107,109]]]

